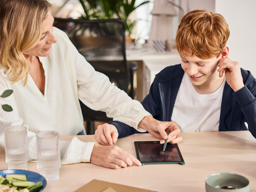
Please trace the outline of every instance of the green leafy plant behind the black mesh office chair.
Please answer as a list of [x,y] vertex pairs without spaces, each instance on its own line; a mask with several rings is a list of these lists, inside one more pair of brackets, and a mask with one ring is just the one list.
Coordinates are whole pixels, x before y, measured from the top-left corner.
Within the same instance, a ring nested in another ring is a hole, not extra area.
[[126,33],[129,36],[138,20],[130,20],[130,14],[150,1],[144,1],[135,6],[136,0],[79,0],[85,15],[82,19],[113,19],[119,18],[125,22]]

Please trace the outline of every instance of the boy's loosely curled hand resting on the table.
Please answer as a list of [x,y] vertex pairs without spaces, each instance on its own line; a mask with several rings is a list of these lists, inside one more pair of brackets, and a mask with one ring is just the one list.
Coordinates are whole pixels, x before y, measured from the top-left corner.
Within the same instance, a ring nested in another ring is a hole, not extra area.
[[95,131],[94,138],[99,145],[111,146],[116,143],[118,132],[114,125],[104,123],[99,125]]

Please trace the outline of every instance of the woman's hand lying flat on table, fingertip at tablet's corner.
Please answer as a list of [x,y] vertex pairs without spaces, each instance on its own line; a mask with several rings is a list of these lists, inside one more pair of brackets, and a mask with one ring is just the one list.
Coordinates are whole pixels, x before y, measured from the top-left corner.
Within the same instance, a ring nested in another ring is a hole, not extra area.
[[115,145],[94,146],[90,162],[112,169],[132,166],[133,163],[141,166],[141,162],[138,159]]

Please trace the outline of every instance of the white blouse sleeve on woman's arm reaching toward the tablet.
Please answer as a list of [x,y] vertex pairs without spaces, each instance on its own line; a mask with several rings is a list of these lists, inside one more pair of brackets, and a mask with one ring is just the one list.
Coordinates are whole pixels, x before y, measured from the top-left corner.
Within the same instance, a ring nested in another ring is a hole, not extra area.
[[138,123],[150,115],[141,103],[132,100],[124,91],[111,84],[108,77],[94,70],[70,42],[74,57],[79,99],[93,110],[106,112],[113,120],[121,121],[136,130]]

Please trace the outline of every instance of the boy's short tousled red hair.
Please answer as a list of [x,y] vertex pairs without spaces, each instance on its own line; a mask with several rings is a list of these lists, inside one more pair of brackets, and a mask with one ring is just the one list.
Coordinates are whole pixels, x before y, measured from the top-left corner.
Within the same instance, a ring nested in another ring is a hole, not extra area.
[[183,16],[176,33],[180,55],[201,59],[218,57],[229,37],[224,17],[207,10],[194,10]]

